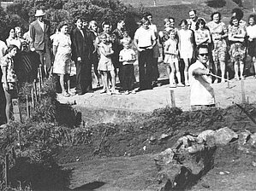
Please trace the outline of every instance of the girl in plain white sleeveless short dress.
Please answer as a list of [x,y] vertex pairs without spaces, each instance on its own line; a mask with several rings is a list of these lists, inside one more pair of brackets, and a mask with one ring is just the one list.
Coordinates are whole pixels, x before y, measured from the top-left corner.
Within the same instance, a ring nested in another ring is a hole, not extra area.
[[181,30],[178,31],[179,37],[179,51],[180,57],[183,59],[184,67],[184,78],[185,85],[189,86],[188,83],[188,67],[191,64],[193,58],[193,32],[188,29],[188,21],[182,20],[180,23]]

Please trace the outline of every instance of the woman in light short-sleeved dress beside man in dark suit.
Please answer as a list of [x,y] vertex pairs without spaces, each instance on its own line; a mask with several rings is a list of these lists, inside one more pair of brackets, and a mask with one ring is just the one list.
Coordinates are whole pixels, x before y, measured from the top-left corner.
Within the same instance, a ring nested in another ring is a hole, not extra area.
[[[74,92],[70,90],[71,39],[68,35],[68,24],[66,23],[59,26],[59,33],[54,38],[53,55],[55,55],[55,60],[52,72],[60,77],[62,95],[65,97],[74,96]],[[65,84],[67,84],[68,90],[65,90]]]

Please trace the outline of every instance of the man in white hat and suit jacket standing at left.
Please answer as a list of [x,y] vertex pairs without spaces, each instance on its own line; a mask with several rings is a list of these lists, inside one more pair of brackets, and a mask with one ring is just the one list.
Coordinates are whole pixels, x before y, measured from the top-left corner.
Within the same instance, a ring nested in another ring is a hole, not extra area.
[[50,23],[44,20],[45,12],[42,9],[36,11],[35,17],[29,26],[30,38],[32,39],[32,51],[36,51],[40,56],[41,67],[45,69],[45,76],[51,71],[51,40]]

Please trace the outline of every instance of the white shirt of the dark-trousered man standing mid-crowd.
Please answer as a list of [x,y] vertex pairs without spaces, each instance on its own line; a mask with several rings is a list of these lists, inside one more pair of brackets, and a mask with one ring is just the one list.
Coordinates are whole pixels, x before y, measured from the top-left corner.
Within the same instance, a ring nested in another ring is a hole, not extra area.
[[143,48],[152,46],[152,41],[156,40],[156,36],[152,29],[144,29],[140,26],[134,34],[134,39],[138,40],[138,46]]

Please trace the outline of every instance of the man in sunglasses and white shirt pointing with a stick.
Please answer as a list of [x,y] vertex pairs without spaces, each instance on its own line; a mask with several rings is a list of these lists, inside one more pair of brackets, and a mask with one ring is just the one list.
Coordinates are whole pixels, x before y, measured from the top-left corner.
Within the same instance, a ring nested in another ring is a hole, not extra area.
[[214,91],[211,87],[210,71],[207,67],[209,60],[208,47],[201,45],[197,51],[197,61],[188,68],[191,87],[190,105],[192,110],[215,107]]

